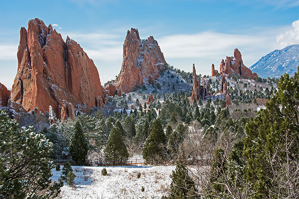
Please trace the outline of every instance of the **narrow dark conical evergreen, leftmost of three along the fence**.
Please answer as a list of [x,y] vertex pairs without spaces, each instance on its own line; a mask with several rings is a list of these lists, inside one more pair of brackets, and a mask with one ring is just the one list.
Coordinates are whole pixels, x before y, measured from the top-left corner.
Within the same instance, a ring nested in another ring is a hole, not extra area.
[[74,134],[70,142],[70,155],[78,165],[85,163],[88,152],[88,143],[79,121],[75,122]]

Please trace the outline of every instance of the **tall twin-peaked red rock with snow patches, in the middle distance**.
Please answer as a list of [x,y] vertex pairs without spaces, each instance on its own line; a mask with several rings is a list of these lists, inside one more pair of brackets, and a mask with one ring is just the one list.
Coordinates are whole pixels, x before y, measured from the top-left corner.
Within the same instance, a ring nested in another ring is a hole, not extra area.
[[[138,29],[128,30],[123,47],[121,72],[113,83],[117,95],[129,93],[159,77],[165,59],[156,40],[141,40]],[[108,86],[109,87],[109,86]],[[110,86],[111,87],[111,86]]]

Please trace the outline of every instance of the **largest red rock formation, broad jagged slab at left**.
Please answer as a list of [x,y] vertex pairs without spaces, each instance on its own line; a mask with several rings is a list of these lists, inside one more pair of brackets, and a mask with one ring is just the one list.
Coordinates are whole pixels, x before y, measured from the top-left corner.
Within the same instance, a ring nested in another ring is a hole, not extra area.
[[[57,117],[70,116],[68,103],[88,110],[105,101],[99,73],[78,43],[45,26],[35,18],[28,29],[21,27],[17,51],[18,69],[11,90],[11,101],[27,111],[41,112],[52,107]],[[98,99],[102,99],[99,101]]]

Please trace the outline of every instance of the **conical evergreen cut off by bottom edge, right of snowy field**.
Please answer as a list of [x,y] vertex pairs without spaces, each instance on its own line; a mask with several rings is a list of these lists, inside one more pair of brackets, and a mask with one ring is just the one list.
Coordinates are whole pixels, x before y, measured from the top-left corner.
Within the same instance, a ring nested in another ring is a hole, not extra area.
[[170,178],[171,192],[168,199],[200,199],[195,183],[181,160],[176,162],[175,171],[172,171]]

